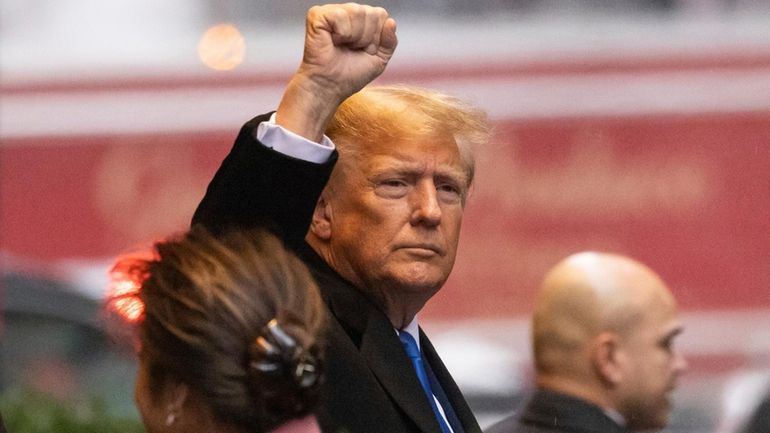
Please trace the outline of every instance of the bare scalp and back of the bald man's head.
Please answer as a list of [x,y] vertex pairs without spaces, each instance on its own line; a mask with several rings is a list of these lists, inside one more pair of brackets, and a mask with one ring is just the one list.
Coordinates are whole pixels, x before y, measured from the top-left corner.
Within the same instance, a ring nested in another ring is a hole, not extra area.
[[[660,278],[629,258],[585,252],[546,275],[535,304],[537,371],[564,371],[602,331],[625,333],[644,316],[650,297],[673,297]],[[567,365],[565,365],[567,364]]]

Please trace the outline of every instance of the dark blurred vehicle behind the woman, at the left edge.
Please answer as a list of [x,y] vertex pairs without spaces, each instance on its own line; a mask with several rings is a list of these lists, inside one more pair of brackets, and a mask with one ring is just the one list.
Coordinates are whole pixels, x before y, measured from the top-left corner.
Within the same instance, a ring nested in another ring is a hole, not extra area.
[[3,273],[0,287],[0,404],[9,429],[5,405],[27,395],[138,420],[131,345],[107,332],[100,300],[20,273]]

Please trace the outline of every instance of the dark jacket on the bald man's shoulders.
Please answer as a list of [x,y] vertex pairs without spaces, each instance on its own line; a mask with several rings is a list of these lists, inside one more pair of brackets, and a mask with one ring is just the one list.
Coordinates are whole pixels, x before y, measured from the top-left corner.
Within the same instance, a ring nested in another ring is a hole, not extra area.
[[568,395],[538,390],[521,415],[512,415],[485,433],[628,433],[601,408]]

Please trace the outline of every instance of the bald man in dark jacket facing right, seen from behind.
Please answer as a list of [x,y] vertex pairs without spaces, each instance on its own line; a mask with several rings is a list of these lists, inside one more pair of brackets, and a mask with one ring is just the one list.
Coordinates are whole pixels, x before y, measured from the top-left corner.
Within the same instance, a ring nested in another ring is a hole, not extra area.
[[487,433],[629,432],[668,423],[686,368],[676,301],[627,257],[585,252],[546,275],[532,327],[537,391]]

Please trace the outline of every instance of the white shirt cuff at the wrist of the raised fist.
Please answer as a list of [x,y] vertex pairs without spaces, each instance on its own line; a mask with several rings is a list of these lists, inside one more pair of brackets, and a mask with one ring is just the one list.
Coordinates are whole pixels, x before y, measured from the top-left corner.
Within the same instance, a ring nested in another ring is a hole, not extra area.
[[324,135],[321,143],[308,140],[280,125],[276,125],[275,113],[270,116],[269,121],[262,122],[257,126],[256,138],[260,143],[276,152],[316,164],[328,161],[334,152],[334,143],[329,137]]

